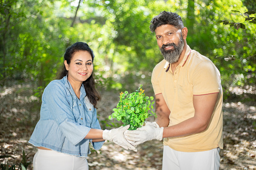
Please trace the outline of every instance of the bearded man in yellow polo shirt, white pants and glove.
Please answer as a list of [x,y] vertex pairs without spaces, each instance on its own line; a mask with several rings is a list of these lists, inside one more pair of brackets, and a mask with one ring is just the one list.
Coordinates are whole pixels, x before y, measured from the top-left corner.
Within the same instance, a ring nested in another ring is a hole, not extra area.
[[187,45],[179,15],[161,12],[150,22],[163,55],[152,72],[156,122],[125,132],[138,145],[163,140],[162,169],[215,170],[220,165],[222,87],[214,64]]

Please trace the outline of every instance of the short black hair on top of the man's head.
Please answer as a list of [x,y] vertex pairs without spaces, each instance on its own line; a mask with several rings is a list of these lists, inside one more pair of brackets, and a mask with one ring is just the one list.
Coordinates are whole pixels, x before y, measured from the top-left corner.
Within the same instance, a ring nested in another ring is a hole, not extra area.
[[181,16],[179,16],[176,13],[172,12],[161,12],[158,16],[155,16],[152,18],[152,21],[150,22],[150,31],[153,33],[157,27],[160,27],[162,25],[173,25],[177,29],[183,29],[184,25],[182,22]]

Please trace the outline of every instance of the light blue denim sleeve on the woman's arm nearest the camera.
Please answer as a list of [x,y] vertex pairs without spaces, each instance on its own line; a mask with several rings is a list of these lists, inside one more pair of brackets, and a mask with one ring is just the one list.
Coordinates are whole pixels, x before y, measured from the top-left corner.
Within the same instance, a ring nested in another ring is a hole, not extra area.
[[76,145],[86,137],[91,128],[75,121],[65,93],[64,86],[53,81],[45,88],[43,102],[46,102],[52,114],[51,117],[57,123],[63,135],[72,144]]

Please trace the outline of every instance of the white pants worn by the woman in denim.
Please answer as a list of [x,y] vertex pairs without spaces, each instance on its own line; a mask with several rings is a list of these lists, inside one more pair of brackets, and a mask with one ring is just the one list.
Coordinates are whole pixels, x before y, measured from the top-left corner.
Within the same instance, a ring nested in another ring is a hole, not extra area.
[[53,150],[38,149],[33,159],[34,170],[88,170],[85,157],[77,157]]

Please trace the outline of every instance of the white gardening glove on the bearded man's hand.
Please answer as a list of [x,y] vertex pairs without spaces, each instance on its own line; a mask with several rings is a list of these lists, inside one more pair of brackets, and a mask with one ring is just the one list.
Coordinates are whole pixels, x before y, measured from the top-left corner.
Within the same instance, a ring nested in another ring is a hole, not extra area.
[[132,143],[134,146],[152,139],[162,140],[163,127],[157,128],[155,124],[151,125],[150,123],[137,128],[137,130],[127,130],[125,132],[126,139],[134,141]]

